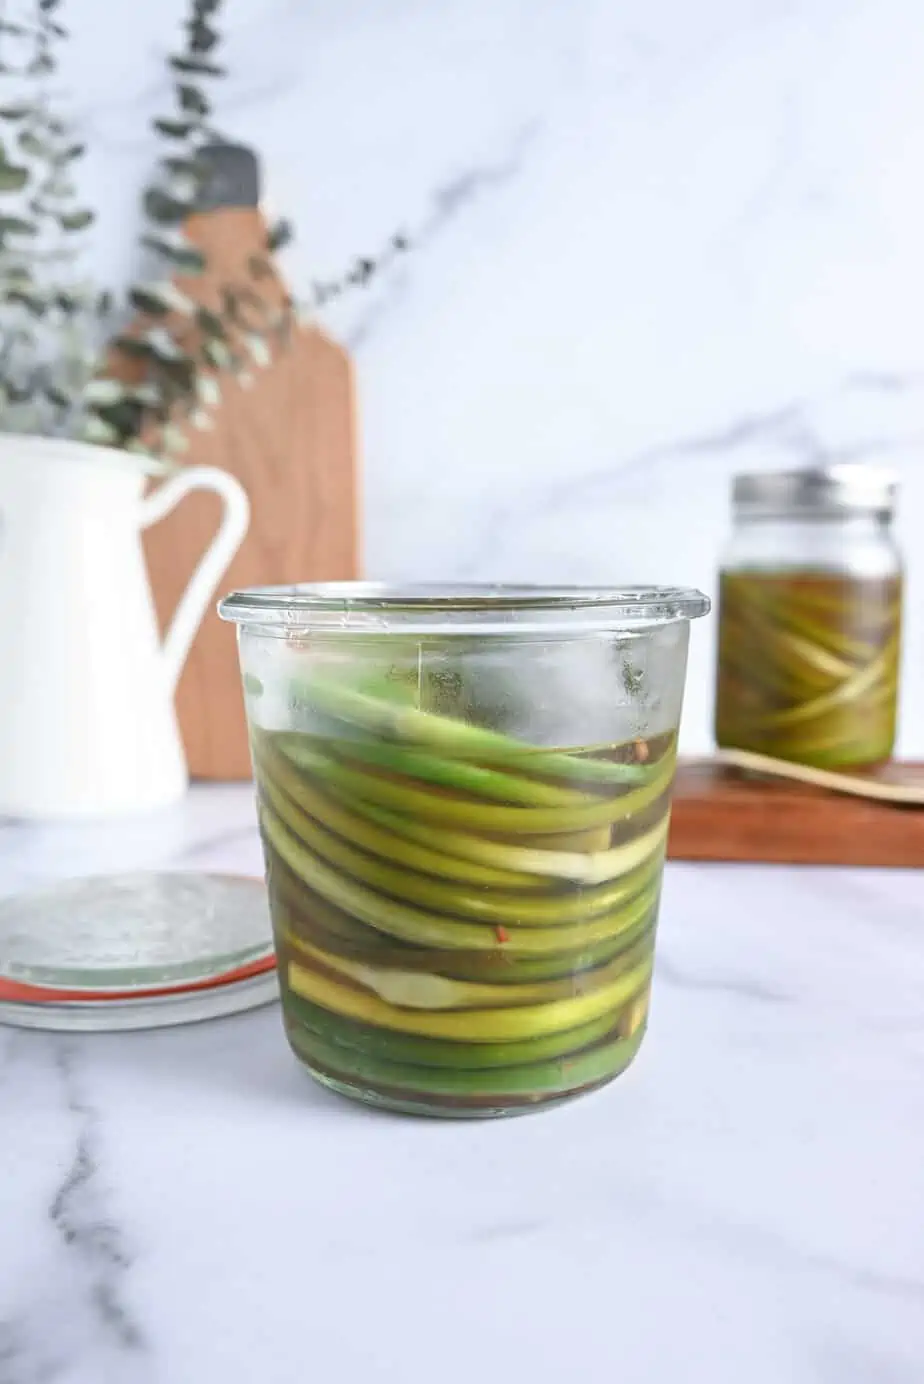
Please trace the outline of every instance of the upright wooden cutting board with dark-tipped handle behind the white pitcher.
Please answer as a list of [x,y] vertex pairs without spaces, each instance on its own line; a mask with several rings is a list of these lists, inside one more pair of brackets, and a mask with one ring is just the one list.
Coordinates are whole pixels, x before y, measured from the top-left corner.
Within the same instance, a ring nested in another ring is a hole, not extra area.
[[[224,159],[227,154],[227,159]],[[263,255],[267,224],[257,202],[256,161],[237,147],[223,166],[206,210],[190,216],[185,238],[206,256],[206,270],[177,277],[177,286],[213,310],[221,286],[248,280]],[[227,174],[227,176],[225,176]],[[270,302],[285,285],[275,266],[260,280]],[[144,322],[138,329],[144,328]],[[120,372],[130,370],[122,363]],[[188,465],[231,472],[250,500],[250,527],[220,592],[239,587],[339,580],[358,576],[358,475],[353,370],[335,342],[299,327],[250,382],[216,376],[214,426],[187,426]],[[219,501],[195,493],[144,534],[154,601],[162,630],[219,525]],[[194,778],[250,775],[235,630],[210,610],[177,688],[177,717]]]

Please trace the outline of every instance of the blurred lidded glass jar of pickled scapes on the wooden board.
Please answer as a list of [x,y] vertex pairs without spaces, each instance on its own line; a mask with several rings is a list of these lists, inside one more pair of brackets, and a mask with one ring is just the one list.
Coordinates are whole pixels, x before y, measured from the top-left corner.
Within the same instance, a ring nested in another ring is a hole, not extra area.
[[820,768],[892,753],[902,624],[895,483],[870,466],[737,476],[715,739]]

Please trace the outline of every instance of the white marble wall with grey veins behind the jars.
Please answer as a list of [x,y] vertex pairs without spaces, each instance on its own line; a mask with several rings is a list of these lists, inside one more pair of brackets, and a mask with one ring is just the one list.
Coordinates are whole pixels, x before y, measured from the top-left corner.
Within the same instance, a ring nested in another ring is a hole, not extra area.
[[[66,0],[113,281],[184,10]],[[884,461],[902,747],[924,753],[920,0],[228,0],[225,26],[219,123],[297,223],[293,281],[415,242],[331,320],[360,371],[368,573],[711,591],[732,472]]]

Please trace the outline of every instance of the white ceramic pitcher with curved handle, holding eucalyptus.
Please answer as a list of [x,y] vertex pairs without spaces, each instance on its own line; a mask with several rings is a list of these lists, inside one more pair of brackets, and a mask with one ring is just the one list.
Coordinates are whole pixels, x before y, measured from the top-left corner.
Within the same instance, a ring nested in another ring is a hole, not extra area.
[[[151,475],[166,479],[145,495]],[[221,497],[221,526],[160,644],[141,530],[190,490]],[[0,815],[105,817],[183,794],[173,693],[248,520],[216,468],[0,435]]]

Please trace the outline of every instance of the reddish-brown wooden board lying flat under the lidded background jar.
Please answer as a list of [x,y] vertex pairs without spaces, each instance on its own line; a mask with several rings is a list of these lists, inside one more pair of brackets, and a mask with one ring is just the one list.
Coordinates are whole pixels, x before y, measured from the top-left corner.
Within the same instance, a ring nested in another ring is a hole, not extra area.
[[[889,764],[878,776],[920,783],[924,764]],[[924,808],[687,761],[678,768],[668,857],[920,869]]]

